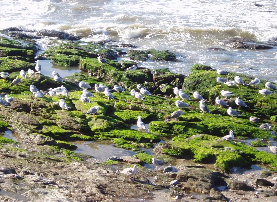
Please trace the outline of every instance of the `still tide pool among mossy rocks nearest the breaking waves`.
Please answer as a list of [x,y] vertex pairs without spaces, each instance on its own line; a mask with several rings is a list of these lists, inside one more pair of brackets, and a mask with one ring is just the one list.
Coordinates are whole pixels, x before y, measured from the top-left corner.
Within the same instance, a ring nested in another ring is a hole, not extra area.
[[41,65],[41,74],[44,76],[52,76],[52,72],[56,71],[61,77],[72,76],[74,73],[79,73],[81,70],[78,66],[67,67],[59,66],[51,63],[52,60],[39,60]]

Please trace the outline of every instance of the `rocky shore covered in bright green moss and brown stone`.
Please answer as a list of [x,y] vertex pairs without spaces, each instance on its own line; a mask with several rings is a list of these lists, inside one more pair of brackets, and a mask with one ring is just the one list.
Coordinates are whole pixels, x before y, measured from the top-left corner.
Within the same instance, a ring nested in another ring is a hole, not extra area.
[[[273,94],[265,97],[258,94],[268,81],[261,80],[254,87],[219,85],[218,76],[230,80],[240,76],[245,83],[254,78],[234,72],[219,75],[206,65],[192,66],[188,76],[168,69],[126,70],[137,61],[179,60],[167,50],[138,50],[135,45],[116,41],[83,42],[64,32],[26,33],[8,28],[1,33],[9,37],[0,37],[0,72],[8,72],[9,77],[0,80],[0,94],[14,97],[10,105],[0,105],[1,201],[158,201],[157,190],[168,201],[276,201],[276,155],[240,142],[254,138],[251,145],[267,146],[277,139],[273,132],[258,128],[262,123],[270,123],[277,133],[277,91],[270,89]],[[47,43],[53,46],[35,57],[41,49],[36,40],[48,36],[51,38],[47,38]],[[255,49],[263,47],[247,40],[229,41],[252,43]],[[231,42],[226,44],[230,46]],[[252,45],[249,47],[253,49]],[[98,56],[105,58],[107,64],[101,65]],[[118,58],[123,60],[115,61]],[[21,78],[22,69],[34,70],[34,61],[45,59],[60,66],[79,66],[83,72],[64,77],[63,83],[33,73],[11,86],[13,79]],[[90,86],[104,84],[110,89],[117,84],[125,91],[112,91],[115,99],[107,100],[105,95],[89,90],[94,97],[91,103],[83,105],[80,81]],[[152,95],[146,95],[145,100],[134,99],[130,91],[137,89],[138,84]],[[30,85],[35,85],[43,97],[34,97]],[[68,96],[48,94],[49,88],[61,85],[68,89]],[[190,108],[182,109],[184,115],[178,121],[165,121],[179,109],[175,101],[180,98],[175,97],[174,87],[182,88],[191,98],[198,91],[207,99],[205,104],[211,113],[201,115],[196,99],[186,100]],[[247,103],[248,107],[239,108],[234,97],[225,99],[241,117],[230,119],[226,107],[216,106],[215,98],[221,90],[232,91]],[[62,111],[60,99],[65,100],[69,111]],[[96,105],[100,107],[97,115],[85,114]],[[149,123],[148,132],[130,128],[138,116]],[[263,121],[250,122],[250,116]],[[7,128],[18,132],[22,140],[2,137]],[[235,132],[235,140],[222,140],[229,130]],[[170,141],[160,142],[163,138]],[[74,152],[77,146],[72,141],[98,139],[137,154],[99,162],[93,156]],[[154,148],[154,154],[147,154],[143,148]],[[153,157],[175,166],[169,166],[165,173],[146,168]],[[128,181],[119,171],[133,164],[138,166],[137,174],[133,176],[135,180]],[[253,164],[266,169],[245,176],[245,169]]]

